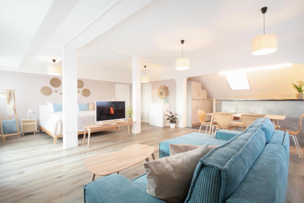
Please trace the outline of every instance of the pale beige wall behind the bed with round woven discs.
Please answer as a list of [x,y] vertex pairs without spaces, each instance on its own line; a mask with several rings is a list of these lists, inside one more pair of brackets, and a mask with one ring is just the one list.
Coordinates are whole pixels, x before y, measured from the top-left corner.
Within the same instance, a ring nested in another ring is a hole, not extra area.
[[[39,117],[38,105],[46,104],[46,102],[60,103],[62,102],[62,85],[59,88],[50,86],[52,75],[41,75],[22,72],[0,71],[0,89],[16,89],[16,109],[18,118],[27,118],[27,110],[34,112],[31,114],[33,118]],[[62,81],[62,77],[57,77]],[[115,83],[101,80],[81,79],[84,87],[78,93],[78,102],[91,102],[95,106],[96,100],[112,100],[115,98]],[[121,83],[127,84],[127,83]],[[76,85],[76,84],[75,84]],[[40,93],[42,86],[50,86],[53,93],[50,96],[43,96]],[[84,97],[81,90],[87,88],[91,91],[91,95]],[[58,92],[55,93],[54,90]],[[132,105],[132,84],[130,84],[130,104]],[[4,98],[0,98],[0,115],[3,120],[8,119],[6,114],[6,102]],[[94,107],[95,109],[95,107]]]

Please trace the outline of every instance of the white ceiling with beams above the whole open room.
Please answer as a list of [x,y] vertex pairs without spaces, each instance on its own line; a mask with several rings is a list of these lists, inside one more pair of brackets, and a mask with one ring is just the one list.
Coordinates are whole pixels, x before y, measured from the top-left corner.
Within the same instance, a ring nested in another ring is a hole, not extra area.
[[142,56],[142,68],[161,74],[181,56],[181,39],[192,64],[232,52],[251,55],[251,39],[263,33],[264,6],[265,31],[278,35],[279,49],[304,38],[303,0],[1,1],[0,69],[46,74],[67,44],[79,48],[83,78],[94,79],[96,68],[130,71],[134,54]]

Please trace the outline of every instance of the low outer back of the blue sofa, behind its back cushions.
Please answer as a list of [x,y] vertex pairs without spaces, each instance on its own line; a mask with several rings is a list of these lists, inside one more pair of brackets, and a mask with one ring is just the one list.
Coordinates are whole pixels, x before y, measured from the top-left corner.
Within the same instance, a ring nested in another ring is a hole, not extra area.
[[285,147],[267,144],[226,202],[285,202],[288,161]]

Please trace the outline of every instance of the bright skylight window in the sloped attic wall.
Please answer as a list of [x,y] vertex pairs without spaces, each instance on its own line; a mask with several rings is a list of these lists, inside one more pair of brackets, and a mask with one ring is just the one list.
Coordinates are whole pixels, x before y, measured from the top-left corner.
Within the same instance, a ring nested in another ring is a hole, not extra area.
[[232,90],[250,89],[246,72],[230,71],[224,74]]

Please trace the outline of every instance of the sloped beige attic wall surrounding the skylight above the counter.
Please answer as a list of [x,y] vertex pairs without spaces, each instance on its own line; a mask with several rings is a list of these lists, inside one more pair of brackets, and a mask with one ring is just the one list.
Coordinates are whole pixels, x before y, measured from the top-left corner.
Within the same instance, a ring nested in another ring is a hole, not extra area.
[[304,65],[293,64],[288,68],[276,68],[247,72],[250,90],[231,90],[225,75],[218,73],[191,77],[202,82],[208,98],[289,98],[295,97],[291,83],[304,80]]

